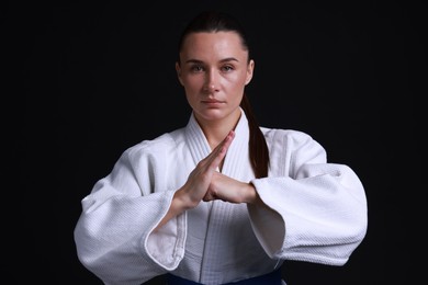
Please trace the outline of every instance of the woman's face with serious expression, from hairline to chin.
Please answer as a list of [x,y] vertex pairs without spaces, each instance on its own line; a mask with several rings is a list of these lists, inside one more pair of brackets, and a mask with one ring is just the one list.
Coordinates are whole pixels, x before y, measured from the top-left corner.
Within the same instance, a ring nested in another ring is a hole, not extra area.
[[[200,123],[237,119],[254,61],[235,32],[191,33],[176,65],[178,78]],[[236,122],[235,122],[236,123]]]

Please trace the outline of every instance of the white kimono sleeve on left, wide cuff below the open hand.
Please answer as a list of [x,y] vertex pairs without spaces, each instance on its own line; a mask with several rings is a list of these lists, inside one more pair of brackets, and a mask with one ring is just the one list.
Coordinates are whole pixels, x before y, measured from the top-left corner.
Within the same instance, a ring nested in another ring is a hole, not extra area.
[[[74,232],[78,258],[105,284],[142,284],[176,269],[183,258],[184,215],[154,233],[174,193],[162,189],[166,183],[158,161],[167,160],[154,151],[125,151],[113,171],[81,201]],[[155,163],[149,157],[160,159]]]

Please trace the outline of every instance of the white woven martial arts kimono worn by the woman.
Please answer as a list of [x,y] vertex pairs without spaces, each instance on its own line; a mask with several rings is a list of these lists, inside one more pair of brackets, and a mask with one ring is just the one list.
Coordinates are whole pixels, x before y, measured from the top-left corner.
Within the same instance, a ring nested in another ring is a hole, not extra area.
[[262,275],[283,260],[342,265],[363,240],[364,189],[347,166],[327,163],[324,148],[296,130],[261,128],[269,176],[255,179],[243,112],[222,172],[252,182],[268,207],[201,202],[156,226],[174,192],[210,146],[193,115],[181,129],[144,140],[82,200],[75,241],[80,262],[105,284],[142,284],[174,275],[223,284]]

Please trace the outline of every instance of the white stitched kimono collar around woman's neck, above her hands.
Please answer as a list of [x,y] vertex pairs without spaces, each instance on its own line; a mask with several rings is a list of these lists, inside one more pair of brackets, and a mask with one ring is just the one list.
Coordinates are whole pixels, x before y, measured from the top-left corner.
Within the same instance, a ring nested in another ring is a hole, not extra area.
[[[193,113],[191,114],[185,127],[185,140],[189,144],[189,149],[195,164],[211,152],[209,141]],[[248,172],[248,167],[250,164],[248,142],[248,119],[245,112],[241,110],[239,122],[235,128],[234,141],[232,141],[232,145],[227,150],[223,164],[222,172],[224,174],[238,179],[244,174],[243,172]]]

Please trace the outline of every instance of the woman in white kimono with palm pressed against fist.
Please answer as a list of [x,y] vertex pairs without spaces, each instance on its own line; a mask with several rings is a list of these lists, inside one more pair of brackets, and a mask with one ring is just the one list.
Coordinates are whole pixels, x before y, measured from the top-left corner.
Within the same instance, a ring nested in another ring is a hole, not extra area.
[[82,200],[78,256],[105,284],[284,284],[284,260],[342,265],[363,240],[356,173],[307,134],[257,125],[249,52],[224,13],[183,31],[188,125],[124,151]]

